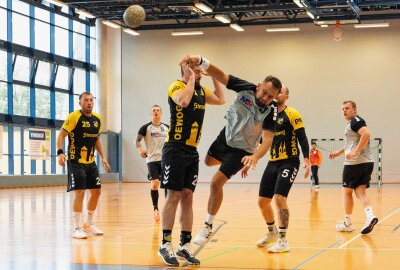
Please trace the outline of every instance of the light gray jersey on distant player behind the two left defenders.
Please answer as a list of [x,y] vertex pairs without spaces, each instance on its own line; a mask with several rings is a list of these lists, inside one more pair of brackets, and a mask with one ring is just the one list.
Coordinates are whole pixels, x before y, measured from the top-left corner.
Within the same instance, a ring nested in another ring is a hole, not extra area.
[[138,134],[144,137],[144,143],[146,144],[147,163],[161,160],[162,148],[168,134],[168,128],[168,125],[164,123],[156,126],[150,122],[139,129]]

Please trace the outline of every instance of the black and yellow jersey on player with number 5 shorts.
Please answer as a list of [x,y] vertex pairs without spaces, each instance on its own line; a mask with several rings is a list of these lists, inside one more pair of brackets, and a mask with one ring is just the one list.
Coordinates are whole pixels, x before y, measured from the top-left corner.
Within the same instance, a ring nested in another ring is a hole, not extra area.
[[299,157],[296,130],[300,128],[304,128],[304,123],[296,109],[286,107],[278,113],[275,136],[270,150],[270,161]]

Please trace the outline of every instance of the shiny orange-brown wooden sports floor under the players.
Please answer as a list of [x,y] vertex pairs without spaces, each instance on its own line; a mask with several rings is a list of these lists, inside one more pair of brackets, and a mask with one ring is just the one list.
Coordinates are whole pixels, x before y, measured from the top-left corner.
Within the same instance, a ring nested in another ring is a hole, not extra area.
[[[0,269],[168,269],[157,256],[161,226],[153,221],[150,184],[104,184],[96,221],[102,237],[71,239],[71,198],[64,187],[0,190]],[[193,245],[201,265],[184,269],[400,269],[400,186],[370,188],[380,222],[359,234],[364,212],[356,202],[353,233],[338,233],[343,218],[339,185],[318,193],[295,184],[289,196],[292,250],[269,254],[255,242],[266,232],[257,184],[225,186],[222,209],[208,245]],[[206,215],[208,184],[195,192],[194,229]],[[164,200],[161,197],[160,204]],[[179,241],[176,221],[173,243]]]

